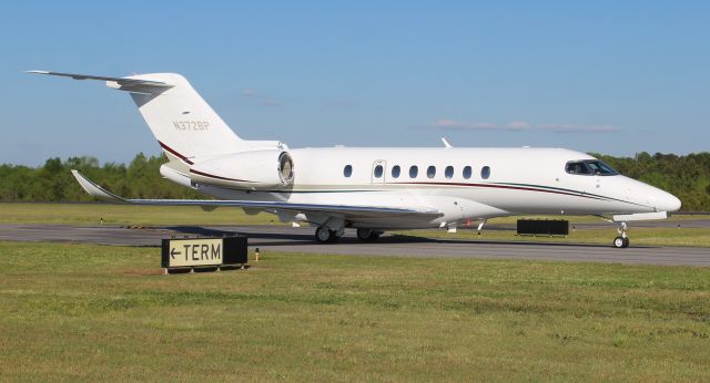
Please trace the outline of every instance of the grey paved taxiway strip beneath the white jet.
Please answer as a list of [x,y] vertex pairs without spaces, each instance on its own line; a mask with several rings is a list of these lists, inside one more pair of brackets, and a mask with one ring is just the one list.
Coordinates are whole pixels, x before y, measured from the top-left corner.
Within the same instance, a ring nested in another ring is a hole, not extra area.
[[[160,246],[161,238],[192,235],[248,236],[250,248],[262,251],[321,252],[359,256],[453,257],[596,261],[649,265],[710,266],[709,248],[610,245],[570,245],[491,240],[427,239],[383,236],[374,244],[358,241],[348,230],[338,244],[320,245],[313,228],[288,226],[160,227],[125,229],[114,226],[0,224],[0,240],[87,242],[100,245]],[[608,234],[609,242],[613,231]],[[633,238],[631,238],[633,240]]]

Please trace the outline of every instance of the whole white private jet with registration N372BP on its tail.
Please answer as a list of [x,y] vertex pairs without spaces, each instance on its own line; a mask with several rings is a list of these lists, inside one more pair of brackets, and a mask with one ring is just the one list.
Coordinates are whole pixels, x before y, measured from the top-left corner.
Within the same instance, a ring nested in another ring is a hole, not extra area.
[[375,240],[383,230],[447,228],[487,218],[531,215],[611,215],[613,246],[627,247],[627,221],[667,218],[674,196],[627,178],[587,154],[562,148],[322,147],[290,148],[277,141],[240,138],[185,77],[152,73],[126,77],[30,71],[102,80],[126,91],[170,162],[163,177],[217,200],[125,199],[77,170],[92,196],[139,205],[237,206],[282,221],[317,227],[320,242],[345,228]]

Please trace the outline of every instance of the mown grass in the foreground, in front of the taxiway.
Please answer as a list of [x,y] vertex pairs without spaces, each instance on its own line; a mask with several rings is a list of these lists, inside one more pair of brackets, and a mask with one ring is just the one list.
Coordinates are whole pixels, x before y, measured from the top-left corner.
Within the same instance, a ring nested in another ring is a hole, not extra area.
[[0,381],[708,381],[710,268],[0,242]]

